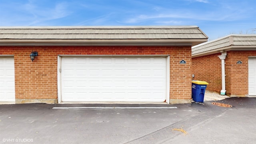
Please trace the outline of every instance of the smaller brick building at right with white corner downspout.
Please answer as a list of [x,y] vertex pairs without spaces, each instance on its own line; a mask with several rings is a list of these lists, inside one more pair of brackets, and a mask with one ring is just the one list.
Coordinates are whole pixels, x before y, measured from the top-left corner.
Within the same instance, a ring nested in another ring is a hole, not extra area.
[[192,74],[209,83],[207,90],[256,96],[256,35],[229,35],[193,46]]

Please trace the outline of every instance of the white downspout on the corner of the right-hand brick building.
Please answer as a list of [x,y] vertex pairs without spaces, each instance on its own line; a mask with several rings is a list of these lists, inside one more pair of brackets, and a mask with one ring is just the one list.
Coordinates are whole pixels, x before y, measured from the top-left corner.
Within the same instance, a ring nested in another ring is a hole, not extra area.
[[221,78],[222,78],[222,90],[220,90],[220,94],[221,95],[225,95],[226,94],[226,82],[225,82],[225,59],[227,56],[227,52],[224,52],[223,50],[220,51],[221,52],[221,56],[218,56],[221,59]]

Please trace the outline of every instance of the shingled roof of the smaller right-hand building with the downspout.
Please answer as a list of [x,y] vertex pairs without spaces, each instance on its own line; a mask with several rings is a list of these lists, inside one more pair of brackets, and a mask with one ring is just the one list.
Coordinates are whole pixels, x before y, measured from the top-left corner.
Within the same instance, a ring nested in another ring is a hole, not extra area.
[[232,34],[192,47],[192,57],[217,53],[220,50],[256,50],[256,34]]

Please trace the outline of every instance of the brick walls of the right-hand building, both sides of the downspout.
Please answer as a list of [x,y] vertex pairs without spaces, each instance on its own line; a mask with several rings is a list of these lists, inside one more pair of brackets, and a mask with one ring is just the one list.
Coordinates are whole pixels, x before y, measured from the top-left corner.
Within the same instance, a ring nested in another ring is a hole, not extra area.
[[[192,74],[195,80],[209,83],[206,90],[220,92],[221,53],[192,58]],[[228,51],[225,60],[226,94],[229,96],[245,96],[248,94],[248,57],[256,56],[256,51]],[[238,60],[242,64],[236,64]]]

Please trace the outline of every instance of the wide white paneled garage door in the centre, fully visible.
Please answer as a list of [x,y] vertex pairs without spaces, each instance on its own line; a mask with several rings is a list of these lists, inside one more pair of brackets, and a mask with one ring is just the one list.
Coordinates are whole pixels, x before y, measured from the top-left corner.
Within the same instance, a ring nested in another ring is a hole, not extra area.
[[62,102],[164,102],[165,57],[62,57]]

